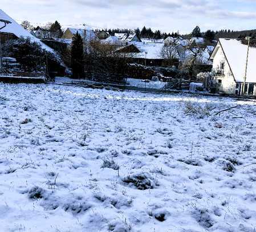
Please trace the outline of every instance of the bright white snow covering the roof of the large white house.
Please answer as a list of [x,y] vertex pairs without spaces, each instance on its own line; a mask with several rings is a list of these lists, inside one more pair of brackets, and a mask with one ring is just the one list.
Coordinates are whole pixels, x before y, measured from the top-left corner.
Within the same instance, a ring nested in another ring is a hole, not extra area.
[[[243,82],[245,76],[247,45],[242,44],[241,41],[237,39],[220,39],[220,43],[236,82]],[[247,83],[256,83],[255,63],[256,48],[250,47],[247,66]]]

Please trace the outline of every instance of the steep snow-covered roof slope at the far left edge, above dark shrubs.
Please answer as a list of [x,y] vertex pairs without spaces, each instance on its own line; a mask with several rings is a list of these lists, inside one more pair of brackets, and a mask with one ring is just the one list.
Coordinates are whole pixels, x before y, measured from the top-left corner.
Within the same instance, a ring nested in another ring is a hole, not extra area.
[[[0,9],[0,19],[4,19],[7,21],[10,21],[11,23],[6,25],[3,29],[0,30],[0,33],[9,33],[14,34],[18,38],[24,37],[24,38],[30,38],[32,42],[39,43],[43,49],[54,52],[54,50],[50,47],[48,47],[46,44],[42,43],[40,39],[35,38],[29,31],[23,29],[21,25],[19,25],[14,19],[12,19],[9,15],[7,15],[3,10]],[[0,22],[0,26],[3,26],[3,23]]]

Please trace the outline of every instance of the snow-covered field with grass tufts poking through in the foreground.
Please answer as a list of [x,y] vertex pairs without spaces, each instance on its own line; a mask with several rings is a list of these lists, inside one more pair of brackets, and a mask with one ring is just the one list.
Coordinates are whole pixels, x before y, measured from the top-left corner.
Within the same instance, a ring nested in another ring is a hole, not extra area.
[[255,232],[253,102],[0,84],[0,112],[0,231]]

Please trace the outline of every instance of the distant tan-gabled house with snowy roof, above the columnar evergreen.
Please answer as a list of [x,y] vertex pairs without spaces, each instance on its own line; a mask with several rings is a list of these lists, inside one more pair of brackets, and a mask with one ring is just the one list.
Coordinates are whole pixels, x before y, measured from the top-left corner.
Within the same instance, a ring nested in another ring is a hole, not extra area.
[[96,35],[91,27],[86,27],[85,29],[74,29],[68,27],[68,29],[64,32],[62,38],[63,39],[72,39],[73,36],[78,32],[78,34],[82,37],[84,41],[92,40],[96,38]]

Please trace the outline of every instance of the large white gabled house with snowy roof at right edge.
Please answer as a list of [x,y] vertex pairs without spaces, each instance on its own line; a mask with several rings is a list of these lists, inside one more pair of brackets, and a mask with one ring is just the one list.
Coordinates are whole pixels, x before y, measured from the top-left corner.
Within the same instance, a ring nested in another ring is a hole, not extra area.
[[222,92],[241,95],[246,76],[246,95],[256,95],[256,48],[249,47],[247,74],[246,58],[247,45],[241,40],[218,41],[210,59],[213,60],[214,79]]

